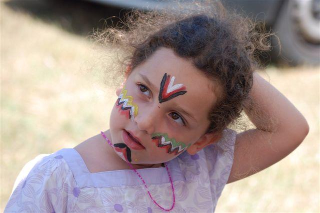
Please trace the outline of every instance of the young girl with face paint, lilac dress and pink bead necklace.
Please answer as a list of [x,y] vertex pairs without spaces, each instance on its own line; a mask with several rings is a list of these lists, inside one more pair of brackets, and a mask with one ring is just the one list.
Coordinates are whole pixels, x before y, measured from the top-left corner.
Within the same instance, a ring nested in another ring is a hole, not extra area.
[[[128,56],[110,129],[27,163],[4,212],[213,212],[225,184],[305,138],[304,117],[254,72],[268,45],[248,20],[219,5],[135,14],[99,35]],[[242,110],[255,128],[237,134]]]

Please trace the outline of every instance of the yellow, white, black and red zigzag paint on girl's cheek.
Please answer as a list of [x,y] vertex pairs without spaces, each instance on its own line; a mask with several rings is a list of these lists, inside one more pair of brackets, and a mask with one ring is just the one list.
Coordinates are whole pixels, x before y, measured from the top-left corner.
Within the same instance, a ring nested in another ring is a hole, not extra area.
[[121,114],[124,114],[128,119],[133,121],[138,114],[138,106],[132,102],[132,96],[126,95],[127,90],[123,87],[121,93],[116,100],[116,107]]

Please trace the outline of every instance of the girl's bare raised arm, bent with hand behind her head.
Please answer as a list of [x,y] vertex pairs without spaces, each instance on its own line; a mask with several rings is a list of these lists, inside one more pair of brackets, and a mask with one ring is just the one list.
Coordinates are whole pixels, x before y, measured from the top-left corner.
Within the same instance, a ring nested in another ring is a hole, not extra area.
[[[302,89],[302,88],[301,88]],[[283,159],[304,140],[309,126],[302,114],[257,72],[250,91],[253,107],[244,111],[256,129],[237,134],[234,159],[227,183],[253,175]],[[264,118],[269,118],[267,123]]]

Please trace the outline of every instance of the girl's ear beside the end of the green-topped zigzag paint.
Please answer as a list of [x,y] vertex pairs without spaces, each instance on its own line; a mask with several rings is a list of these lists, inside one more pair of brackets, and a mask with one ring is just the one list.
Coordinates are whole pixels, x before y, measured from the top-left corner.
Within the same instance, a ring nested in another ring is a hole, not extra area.
[[195,155],[198,151],[203,149],[204,147],[214,144],[218,142],[222,137],[222,133],[206,133],[202,135],[195,143],[193,143],[191,146],[189,146],[186,151],[190,155]]

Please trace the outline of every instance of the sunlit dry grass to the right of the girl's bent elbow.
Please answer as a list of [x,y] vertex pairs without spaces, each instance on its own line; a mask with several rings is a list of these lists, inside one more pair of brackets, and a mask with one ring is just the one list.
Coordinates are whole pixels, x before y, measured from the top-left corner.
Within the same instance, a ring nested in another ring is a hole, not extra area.
[[269,82],[308,121],[302,144],[277,164],[228,184],[217,212],[314,212],[319,210],[319,68],[270,68]]

